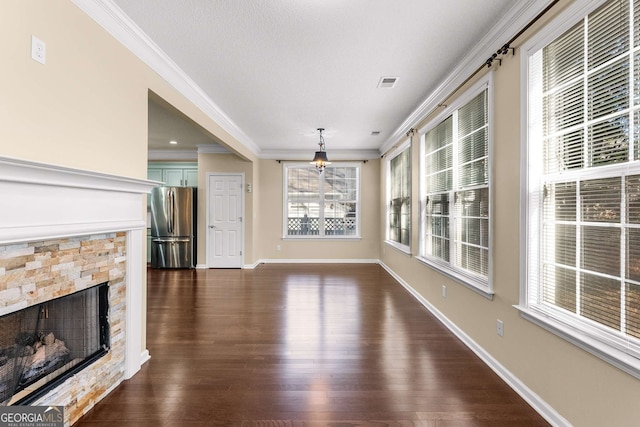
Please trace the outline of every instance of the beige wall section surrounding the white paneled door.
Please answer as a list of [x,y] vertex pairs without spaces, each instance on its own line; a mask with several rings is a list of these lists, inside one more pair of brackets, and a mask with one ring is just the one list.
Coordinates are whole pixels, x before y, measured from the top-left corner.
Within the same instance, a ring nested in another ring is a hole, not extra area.
[[[198,264],[207,264],[207,176],[209,173],[244,174],[244,263],[254,264],[257,261],[253,250],[254,231],[254,195],[253,162],[243,160],[235,154],[199,154],[198,155]],[[252,192],[247,192],[246,185],[251,184]]]

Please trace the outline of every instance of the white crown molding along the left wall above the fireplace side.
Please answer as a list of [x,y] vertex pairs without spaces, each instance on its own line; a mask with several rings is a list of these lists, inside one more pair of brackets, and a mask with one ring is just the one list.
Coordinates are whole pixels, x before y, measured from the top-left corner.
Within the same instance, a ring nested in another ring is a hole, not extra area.
[[254,155],[259,147],[112,0],[73,3]]

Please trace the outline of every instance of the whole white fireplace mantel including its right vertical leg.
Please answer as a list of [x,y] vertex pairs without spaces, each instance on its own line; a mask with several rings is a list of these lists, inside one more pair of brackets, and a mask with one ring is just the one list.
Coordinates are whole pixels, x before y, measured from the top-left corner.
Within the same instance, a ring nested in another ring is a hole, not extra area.
[[0,245],[127,233],[125,377],[146,359],[144,194],[159,182],[0,157]]

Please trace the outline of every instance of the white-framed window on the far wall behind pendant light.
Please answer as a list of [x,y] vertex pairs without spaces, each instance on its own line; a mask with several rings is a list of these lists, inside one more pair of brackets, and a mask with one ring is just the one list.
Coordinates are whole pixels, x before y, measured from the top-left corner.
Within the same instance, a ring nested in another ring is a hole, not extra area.
[[284,237],[358,237],[360,166],[286,164]]

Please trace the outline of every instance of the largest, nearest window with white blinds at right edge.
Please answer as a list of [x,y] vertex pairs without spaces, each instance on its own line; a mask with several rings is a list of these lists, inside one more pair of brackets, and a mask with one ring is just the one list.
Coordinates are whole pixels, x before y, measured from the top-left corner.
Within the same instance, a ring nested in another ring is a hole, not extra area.
[[520,305],[638,376],[640,0],[594,3],[560,36],[526,49]]

